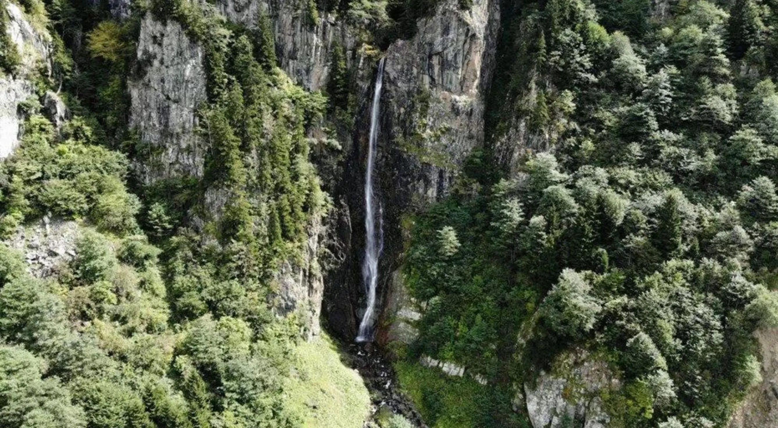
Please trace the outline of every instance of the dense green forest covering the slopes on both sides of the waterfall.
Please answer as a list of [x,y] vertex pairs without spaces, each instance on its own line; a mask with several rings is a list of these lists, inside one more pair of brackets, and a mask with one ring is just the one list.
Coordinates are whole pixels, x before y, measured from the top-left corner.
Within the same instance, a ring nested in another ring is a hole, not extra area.
[[[442,3],[295,7],[302,26],[359,28],[373,62]],[[16,48],[9,5],[49,35],[49,65]],[[366,114],[356,61],[335,42],[326,84],[307,90],[279,67],[265,12],[244,26],[212,2],[110,7],[0,0],[0,86],[33,91],[0,163],[0,426],[416,426],[373,416],[353,338],[314,335],[319,320],[279,291]],[[762,382],[754,332],[778,327],[778,3],[502,0],[499,13],[485,141],[401,225],[400,276],[423,310],[418,336],[386,349],[399,391],[426,426],[528,428],[517,389],[585,355],[618,379],[595,391],[601,426],[727,426]],[[202,174],[152,177],[168,148],[130,123],[149,16],[202,47]],[[43,270],[24,251],[41,228],[72,246]]]

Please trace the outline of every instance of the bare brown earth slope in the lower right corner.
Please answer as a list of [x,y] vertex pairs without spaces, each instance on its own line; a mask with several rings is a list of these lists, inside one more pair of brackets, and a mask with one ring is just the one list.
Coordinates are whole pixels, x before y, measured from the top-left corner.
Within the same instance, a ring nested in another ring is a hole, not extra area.
[[728,428],[778,427],[778,328],[755,332],[762,353],[762,383],[734,412]]

